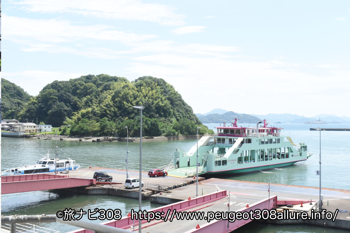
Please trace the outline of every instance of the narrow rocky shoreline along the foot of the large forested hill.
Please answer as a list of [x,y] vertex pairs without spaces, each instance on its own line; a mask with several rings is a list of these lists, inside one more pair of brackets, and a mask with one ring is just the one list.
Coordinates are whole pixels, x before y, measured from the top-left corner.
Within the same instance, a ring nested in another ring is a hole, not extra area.
[[[208,136],[214,136],[214,134],[208,134]],[[203,135],[198,135],[200,139]],[[42,139],[42,140],[56,140],[56,135],[54,134],[36,134],[36,135],[25,135],[25,138],[33,139]],[[169,140],[186,140],[186,139],[196,139],[197,135],[190,136],[169,136],[169,137],[142,137],[142,142],[144,141],[169,141]],[[64,136],[57,135],[57,140],[66,140],[66,141],[96,141],[96,142],[105,142],[105,141],[127,141],[126,137],[73,137],[73,136]],[[129,137],[129,142],[138,142],[140,141],[139,137]]]

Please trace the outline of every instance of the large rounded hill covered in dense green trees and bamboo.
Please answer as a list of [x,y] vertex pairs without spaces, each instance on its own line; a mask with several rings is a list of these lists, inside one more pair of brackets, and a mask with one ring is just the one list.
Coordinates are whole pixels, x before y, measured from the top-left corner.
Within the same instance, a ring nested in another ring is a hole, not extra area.
[[170,136],[196,134],[210,130],[198,120],[192,108],[174,87],[163,79],[141,77],[132,82],[107,74],[86,75],[46,85],[20,112],[28,118],[52,126],[70,124],[71,135],[129,136],[140,133],[140,110],[144,106],[142,134]]

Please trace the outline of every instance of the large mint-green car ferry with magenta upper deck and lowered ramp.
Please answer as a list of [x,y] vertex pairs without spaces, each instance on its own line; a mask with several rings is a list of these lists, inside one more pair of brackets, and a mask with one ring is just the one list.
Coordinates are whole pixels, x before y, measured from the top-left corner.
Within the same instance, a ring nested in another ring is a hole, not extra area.
[[[294,144],[283,136],[283,128],[264,126],[215,127],[217,136],[203,136],[188,152],[176,149],[173,161],[166,166],[170,176],[189,177],[197,174],[238,174],[293,165],[311,156],[305,143]],[[198,148],[198,152],[197,152]],[[198,153],[198,164],[196,154]]]

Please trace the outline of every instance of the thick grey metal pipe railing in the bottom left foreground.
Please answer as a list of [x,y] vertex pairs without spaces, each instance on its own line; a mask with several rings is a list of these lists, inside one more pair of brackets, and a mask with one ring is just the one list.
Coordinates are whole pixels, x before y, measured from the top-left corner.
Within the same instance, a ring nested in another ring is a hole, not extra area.
[[22,223],[63,223],[66,225],[76,226],[84,228],[86,230],[99,232],[99,233],[130,233],[128,230],[120,229],[117,227],[106,226],[98,223],[92,223],[84,220],[63,220],[57,218],[55,214],[49,215],[12,215],[1,216],[2,224],[10,225],[10,233],[16,232],[16,225]]

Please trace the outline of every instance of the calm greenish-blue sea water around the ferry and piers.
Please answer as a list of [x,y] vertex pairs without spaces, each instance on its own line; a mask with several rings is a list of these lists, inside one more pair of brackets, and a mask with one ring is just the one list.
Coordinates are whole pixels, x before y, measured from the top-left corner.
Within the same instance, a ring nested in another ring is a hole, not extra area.
[[[214,129],[219,124],[206,124]],[[248,126],[248,124],[239,124]],[[254,126],[251,124],[251,126]],[[315,174],[319,170],[320,133],[309,131],[310,127],[321,128],[350,128],[350,124],[273,124],[284,128],[284,136],[290,136],[294,143],[304,142],[308,150],[313,153],[307,161],[298,162],[286,168],[273,169],[266,172],[257,172],[246,175],[223,177],[225,179],[257,181],[281,184],[293,184],[318,187],[319,177]],[[142,143],[142,170],[165,165],[170,162],[176,148],[188,151],[196,140],[158,141]],[[126,143],[92,143],[76,141],[57,141],[58,158],[72,158],[81,167],[97,166],[106,168],[126,169]],[[322,156],[322,187],[350,190],[350,148],[349,131],[321,131],[321,156]],[[30,165],[36,163],[50,150],[54,156],[55,140],[25,139],[25,138],[1,138],[1,170],[11,167]],[[129,143],[128,168],[139,170],[139,143]],[[149,200],[142,202],[143,209],[153,209],[160,205],[151,204]],[[72,209],[121,209],[125,216],[131,209],[138,209],[138,200],[117,196],[105,195],[80,195],[62,194],[49,191],[25,192],[19,194],[1,195],[1,214],[55,214],[64,208]],[[87,220],[87,218],[83,218]],[[103,222],[94,220],[94,222]],[[41,224],[41,226],[67,232],[75,230],[72,226],[64,224]],[[314,227],[306,225],[269,225],[261,223],[247,224],[247,226],[235,232],[258,233],[306,233],[306,232],[336,232],[348,231],[332,228]]]

